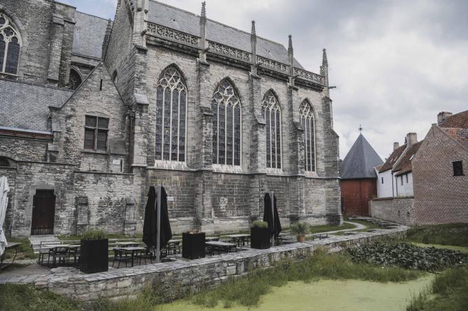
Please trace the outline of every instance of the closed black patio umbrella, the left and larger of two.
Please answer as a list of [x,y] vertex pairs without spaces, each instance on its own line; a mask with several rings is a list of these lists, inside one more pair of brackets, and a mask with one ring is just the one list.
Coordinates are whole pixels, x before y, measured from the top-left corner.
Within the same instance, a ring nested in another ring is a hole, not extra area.
[[[160,248],[164,248],[172,238],[169,213],[167,211],[167,193],[161,187],[161,213],[160,213]],[[143,222],[143,242],[148,248],[156,247],[158,237],[158,195],[154,186],[149,187],[148,201],[145,207],[145,220]]]

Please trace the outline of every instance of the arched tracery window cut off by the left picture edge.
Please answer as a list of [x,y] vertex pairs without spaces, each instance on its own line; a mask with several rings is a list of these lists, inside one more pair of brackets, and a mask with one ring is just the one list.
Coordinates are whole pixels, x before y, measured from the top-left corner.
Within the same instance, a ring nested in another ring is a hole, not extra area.
[[17,74],[21,36],[14,23],[0,12],[0,73]]

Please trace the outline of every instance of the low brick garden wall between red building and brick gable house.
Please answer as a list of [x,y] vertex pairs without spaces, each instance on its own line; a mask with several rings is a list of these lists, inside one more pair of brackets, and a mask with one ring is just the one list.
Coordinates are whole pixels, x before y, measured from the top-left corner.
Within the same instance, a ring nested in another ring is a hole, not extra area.
[[412,198],[382,198],[369,201],[370,216],[398,224],[416,224],[414,213],[415,200]]

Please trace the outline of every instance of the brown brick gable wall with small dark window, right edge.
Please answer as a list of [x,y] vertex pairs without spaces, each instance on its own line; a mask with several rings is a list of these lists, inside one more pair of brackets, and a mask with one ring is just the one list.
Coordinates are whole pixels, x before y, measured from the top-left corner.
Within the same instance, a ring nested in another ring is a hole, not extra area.
[[[454,176],[460,160],[465,175]],[[468,222],[468,150],[433,125],[412,163],[416,223]]]

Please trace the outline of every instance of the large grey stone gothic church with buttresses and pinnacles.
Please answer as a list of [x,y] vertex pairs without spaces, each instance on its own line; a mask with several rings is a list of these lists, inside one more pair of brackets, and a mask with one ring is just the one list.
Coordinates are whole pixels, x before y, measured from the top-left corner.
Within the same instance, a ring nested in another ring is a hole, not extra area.
[[142,230],[150,185],[175,232],[342,222],[328,61],[153,0],[114,21],[0,0],[0,175],[12,236]]

